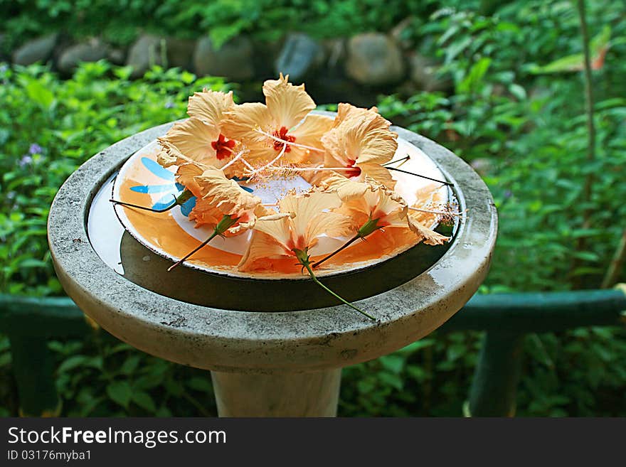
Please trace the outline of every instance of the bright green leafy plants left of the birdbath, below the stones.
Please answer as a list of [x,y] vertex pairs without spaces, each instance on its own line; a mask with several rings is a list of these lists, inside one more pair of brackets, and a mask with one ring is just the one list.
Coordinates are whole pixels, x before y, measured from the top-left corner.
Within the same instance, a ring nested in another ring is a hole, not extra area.
[[131,134],[184,117],[187,98],[216,78],[154,68],[129,81],[127,68],[85,64],[59,81],[33,66],[0,72],[0,289],[59,294],[46,221],[56,190],[97,151]]

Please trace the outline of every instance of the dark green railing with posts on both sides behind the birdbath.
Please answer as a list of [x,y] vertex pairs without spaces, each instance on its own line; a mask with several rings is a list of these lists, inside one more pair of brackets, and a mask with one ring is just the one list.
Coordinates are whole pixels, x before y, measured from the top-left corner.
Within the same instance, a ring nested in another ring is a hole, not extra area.
[[[487,331],[482,341],[466,412],[474,417],[512,416],[526,333],[624,323],[626,285],[612,290],[477,295],[442,331]],[[9,336],[21,414],[54,416],[60,399],[54,384],[51,338],[73,338],[92,323],[68,298],[0,295],[0,332]]]

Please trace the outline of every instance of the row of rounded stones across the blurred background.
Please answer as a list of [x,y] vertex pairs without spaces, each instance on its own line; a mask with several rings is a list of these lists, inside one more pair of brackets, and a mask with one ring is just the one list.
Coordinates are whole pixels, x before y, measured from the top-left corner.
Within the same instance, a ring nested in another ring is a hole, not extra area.
[[306,82],[319,103],[369,105],[381,93],[447,90],[450,83],[437,77],[437,63],[400,40],[402,28],[400,24],[388,34],[363,33],[326,41],[304,33],[290,33],[277,43],[238,36],[220,48],[208,36],[193,41],[143,34],[127,50],[99,38],[75,43],[55,33],[24,43],[4,60],[19,65],[51,63],[65,77],[78,63],[103,58],[131,66],[132,77],[142,76],[151,65],[180,67],[242,83],[244,100],[258,99],[258,85],[252,83],[278,73],[289,74],[292,82]]

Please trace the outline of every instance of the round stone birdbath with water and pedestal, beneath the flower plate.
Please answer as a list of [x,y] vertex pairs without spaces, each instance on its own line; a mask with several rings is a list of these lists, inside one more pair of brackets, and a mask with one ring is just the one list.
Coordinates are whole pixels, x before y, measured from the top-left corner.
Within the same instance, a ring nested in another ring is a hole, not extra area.
[[342,367],[428,335],[487,274],[497,234],[489,190],[452,152],[391,127],[435,161],[467,214],[451,242],[430,247],[434,255],[418,245],[327,279],[377,321],[329,302],[310,280],[282,289],[190,268],[168,275],[171,263],[125,233],[108,200],[124,161],[170,127],[130,136],[80,166],[51,206],[48,240],[61,284],[87,316],[139,350],[210,370],[221,417],[335,416]]

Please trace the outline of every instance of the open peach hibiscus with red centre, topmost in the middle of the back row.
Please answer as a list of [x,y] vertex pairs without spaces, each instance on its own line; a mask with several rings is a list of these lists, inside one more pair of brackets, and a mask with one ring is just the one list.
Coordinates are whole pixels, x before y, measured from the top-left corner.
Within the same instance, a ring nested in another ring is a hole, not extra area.
[[278,80],[265,81],[265,104],[247,102],[226,112],[225,134],[245,144],[250,163],[258,162],[261,168],[280,159],[289,163],[322,161],[320,139],[332,120],[309,115],[315,102],[304,85],[292,85],[288,78],[281,73]]

